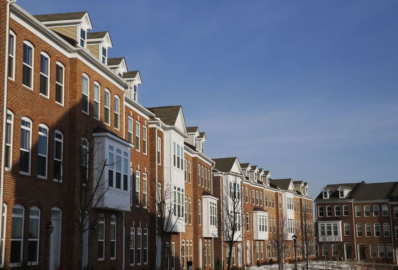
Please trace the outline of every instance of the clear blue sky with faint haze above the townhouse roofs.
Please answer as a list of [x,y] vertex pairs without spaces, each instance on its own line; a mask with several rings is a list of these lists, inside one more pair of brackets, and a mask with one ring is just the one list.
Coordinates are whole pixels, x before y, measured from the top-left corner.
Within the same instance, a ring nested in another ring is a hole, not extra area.
[[[117,2],[117,3],[116,3]],[[88,10],[145,106],[183,105],[210,157],[274,178],[398,181],[398,1],[18,0]]]

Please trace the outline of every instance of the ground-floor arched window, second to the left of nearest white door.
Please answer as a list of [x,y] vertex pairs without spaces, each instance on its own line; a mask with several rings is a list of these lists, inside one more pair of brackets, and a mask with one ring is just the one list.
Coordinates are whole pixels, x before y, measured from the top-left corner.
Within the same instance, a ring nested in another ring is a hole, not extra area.
[[12,207],[11,251],[10,251],[11,264],[19,264],[20,262],[22,262],[23,217],[24,217],[23,206],[20,204],[15,204]]

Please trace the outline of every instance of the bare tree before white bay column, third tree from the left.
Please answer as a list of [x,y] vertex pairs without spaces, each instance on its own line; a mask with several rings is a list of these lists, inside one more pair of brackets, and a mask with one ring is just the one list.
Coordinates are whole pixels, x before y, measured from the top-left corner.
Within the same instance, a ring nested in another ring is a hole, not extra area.
[[220,230],[221,243],[228,248],[227,270],[231,269],[232,248],[242,238],[243,201],[240,194],[241,179],[238,176],[227,176],[224,181],[221,199]]

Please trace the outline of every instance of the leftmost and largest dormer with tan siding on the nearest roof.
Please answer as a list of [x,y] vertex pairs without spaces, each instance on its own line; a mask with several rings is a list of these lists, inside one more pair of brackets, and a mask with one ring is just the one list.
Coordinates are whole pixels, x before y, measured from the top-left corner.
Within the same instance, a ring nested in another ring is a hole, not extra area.
[[87,31],[93,28],[89,12],[42,14],[34,17],[66,41],[87,48]]

